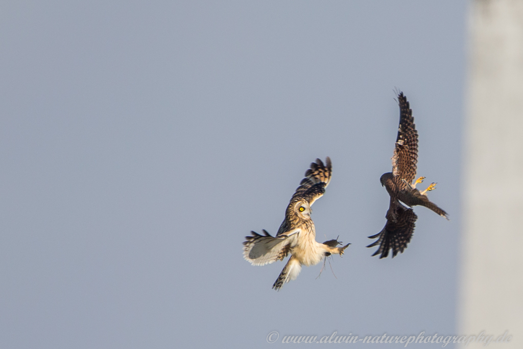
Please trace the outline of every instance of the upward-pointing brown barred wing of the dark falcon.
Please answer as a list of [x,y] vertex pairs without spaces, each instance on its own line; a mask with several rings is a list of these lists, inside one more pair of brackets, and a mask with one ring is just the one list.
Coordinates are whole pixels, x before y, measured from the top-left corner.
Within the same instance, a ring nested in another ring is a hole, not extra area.
[[392,156],[392,174],[411,184],[416,176],[418,162],[418,132],[407,97],[400,92],[397,99],[400,105],[400,126]]

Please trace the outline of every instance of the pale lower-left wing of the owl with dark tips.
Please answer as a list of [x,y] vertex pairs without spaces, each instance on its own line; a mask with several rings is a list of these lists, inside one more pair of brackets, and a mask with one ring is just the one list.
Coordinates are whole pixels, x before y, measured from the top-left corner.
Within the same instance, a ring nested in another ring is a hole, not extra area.
[[252,236],[245,237],[243,257],[252,265],[265,265],[282,261],[291,251],[291,246],[299,231],[272,237],[266,230],[264,235],[251,231]]

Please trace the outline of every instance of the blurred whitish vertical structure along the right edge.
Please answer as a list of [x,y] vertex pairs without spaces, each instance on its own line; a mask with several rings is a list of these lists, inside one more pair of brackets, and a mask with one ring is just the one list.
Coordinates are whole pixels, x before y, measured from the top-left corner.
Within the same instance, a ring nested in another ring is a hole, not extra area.
[[469,10],[459,332],[523,348],[523,0]]

